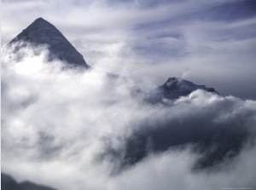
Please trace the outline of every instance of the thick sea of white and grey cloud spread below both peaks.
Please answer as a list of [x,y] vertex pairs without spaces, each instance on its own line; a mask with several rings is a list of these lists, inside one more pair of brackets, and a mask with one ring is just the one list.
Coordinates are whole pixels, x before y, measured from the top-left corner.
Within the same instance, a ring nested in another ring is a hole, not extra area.
[[[196,90],[165,105],[148,104],[134,87],[148,92],[154,81],[132,75],[119,66],[123,60],[81,71],[47,55],[45,47],[1,50],[3,172],[61,190],[256,187],[256,101]],[[207,127],[247,136],[235,157],[205,170],[193,170],[201,153],[189,140],[159,153],[149,147],[142,160],[115,175],[124,157],[99,159],[108,147],[125,153],[135,131],[147,135],[163,126],[181,138],[204,135]]]

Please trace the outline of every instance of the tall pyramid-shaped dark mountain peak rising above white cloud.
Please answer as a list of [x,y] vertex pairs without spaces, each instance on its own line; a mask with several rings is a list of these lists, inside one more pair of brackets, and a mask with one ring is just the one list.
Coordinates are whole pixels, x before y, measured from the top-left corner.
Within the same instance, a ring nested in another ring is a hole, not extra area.
[[[49,60],[59,59],[69,66],[83,66],[89,68],[77,49],[67,41],[67,38],[52,24],[43,18],[38,18],[9,44],[31,43],[32,45],[47,45]],[[24,44],[23,44],[24,45]]]

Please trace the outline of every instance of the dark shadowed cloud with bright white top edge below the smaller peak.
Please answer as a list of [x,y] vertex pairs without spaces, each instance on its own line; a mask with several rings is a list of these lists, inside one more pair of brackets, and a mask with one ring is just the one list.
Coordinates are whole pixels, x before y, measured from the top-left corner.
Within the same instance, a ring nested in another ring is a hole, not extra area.
[[252,138],[255,106],[253,101],[221,98],[197,90],[139,121],[132,134],[123,140],[124,146],[113,148],[108,144],[102,158],[119,163],[119,172],[150,153],[192,145],[195,152],[201,153],[195,168],[212,167],[226,158],[234,158]]

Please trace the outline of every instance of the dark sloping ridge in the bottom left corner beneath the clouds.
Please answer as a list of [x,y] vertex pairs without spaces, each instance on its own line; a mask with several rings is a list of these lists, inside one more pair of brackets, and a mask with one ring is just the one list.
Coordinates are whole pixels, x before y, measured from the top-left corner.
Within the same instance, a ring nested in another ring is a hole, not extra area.
[[24,181],[18,183],[9,175],[1,173],[2,190],[55,190],[54,188],[37,185],[35,183]]

